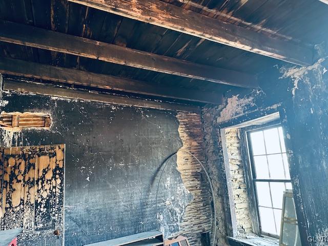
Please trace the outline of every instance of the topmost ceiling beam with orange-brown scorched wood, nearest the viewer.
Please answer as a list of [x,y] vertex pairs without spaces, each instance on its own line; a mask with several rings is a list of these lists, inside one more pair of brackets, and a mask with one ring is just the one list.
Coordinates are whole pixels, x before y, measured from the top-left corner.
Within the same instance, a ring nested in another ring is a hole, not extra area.
[[206,38],[213,42],[270,56],[297,65],[311,65],[314,50],[276,39],[159,0],[68,0],[141,22]]

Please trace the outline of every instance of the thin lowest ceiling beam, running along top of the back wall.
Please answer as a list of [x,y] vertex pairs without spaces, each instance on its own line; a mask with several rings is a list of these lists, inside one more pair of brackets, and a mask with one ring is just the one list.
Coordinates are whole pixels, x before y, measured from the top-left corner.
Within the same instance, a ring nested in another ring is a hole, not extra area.
[[58,88],[50,85],[39,83],[22,83],[5,79],[3,81],[4,90],[22,93],[33,93],[37,95],[55,96],[60,98],[80,99],[87,101],[98,101],[100,103],[115,104],[120,106],[129,106],[137,108],[150,108],[178,112],[199,113],[200,109],[196,106],[162,103],[158,101],[142,100],[138,98],[130,98],[124,96],[100,94],[83,90],[73,90]]

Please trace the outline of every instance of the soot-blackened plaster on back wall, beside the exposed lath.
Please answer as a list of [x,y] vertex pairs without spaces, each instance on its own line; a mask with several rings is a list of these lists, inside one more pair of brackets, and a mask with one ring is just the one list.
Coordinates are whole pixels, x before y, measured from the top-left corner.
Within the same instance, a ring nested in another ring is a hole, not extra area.
[[[49,113],[53,125],[50,131],[15,133],[13,141],[2,130],[1,146],[66,144],[65,245],[157,229],[158,171],[182,146],[173,113],[17,93],[2,99],[3,111]],[[191,195],[175,158],[160,183],[159,222],[177,232]],[[177,198],[170,208],[168,197]]]

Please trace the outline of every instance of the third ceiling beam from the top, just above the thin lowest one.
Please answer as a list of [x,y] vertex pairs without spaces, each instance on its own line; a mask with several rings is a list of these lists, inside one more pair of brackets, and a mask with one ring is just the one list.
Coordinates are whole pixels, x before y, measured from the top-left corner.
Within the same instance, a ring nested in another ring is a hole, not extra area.
[[4,57],[0,57],[0,73],[28,78],[40,78],[72,85],[197,101],[200,103],[221,104],[223,98],[222,93],[202,92],[159,85],[154,86],[139,80],[30,63],[24,60]]

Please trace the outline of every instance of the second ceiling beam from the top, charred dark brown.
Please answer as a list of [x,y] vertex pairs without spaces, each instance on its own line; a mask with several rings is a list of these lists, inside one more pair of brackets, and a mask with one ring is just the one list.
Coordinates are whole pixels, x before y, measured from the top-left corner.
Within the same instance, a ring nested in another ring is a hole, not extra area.
[[135,68],[244,88],[257,88],[254,75],[191,63],[64,33],[0,20],[0,41],[84,56]]

